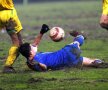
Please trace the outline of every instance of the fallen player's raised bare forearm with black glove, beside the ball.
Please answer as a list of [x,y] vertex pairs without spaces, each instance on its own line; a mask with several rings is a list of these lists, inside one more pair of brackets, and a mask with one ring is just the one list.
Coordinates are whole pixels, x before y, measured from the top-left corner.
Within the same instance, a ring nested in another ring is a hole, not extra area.
[[40,30],[39,35],[35,38],[35,40],[34,40],[34,42],[33,42],[32,45],[36,47],[36,46],[40,43],[43,34],[46,33],[48,30],[49,30],[48,25],[43,24],[43,25],[42,25],[42,28],[41,28],[41,30]]

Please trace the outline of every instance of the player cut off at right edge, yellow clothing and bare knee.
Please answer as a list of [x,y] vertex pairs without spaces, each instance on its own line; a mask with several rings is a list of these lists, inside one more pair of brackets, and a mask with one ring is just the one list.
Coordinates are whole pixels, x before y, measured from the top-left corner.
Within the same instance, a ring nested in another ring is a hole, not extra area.
[[102,28],[108,30],[108,0],[103,0],[102,16],[100,18]]

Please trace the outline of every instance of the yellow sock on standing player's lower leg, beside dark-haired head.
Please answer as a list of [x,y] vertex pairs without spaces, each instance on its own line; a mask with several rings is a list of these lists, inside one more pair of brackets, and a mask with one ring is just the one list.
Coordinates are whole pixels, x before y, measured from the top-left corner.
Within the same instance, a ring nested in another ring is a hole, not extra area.
[[16,60],[17,56],[18,56],[18,47],[12,46],[9,49],[9,55],[8,55],[7,60],[6,60],[5,66],[12,66],[12,64]]

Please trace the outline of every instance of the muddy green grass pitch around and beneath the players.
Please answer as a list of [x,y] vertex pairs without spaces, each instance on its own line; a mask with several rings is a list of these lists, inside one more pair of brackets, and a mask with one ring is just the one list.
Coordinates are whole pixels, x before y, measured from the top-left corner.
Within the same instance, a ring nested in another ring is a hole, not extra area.
[[[16,5],[18,15],[24,26],[24,41],[32,42],[41,25],[60,26],[66,32],[63,41],[51,41],[48,33],[44,35],[39,51],[55,51],[72,42],[70,30],[84,31],[87,40],[82,46],[82,55],[100,58],[108,62],[108,32],[99,26],[101,1],[38,3],[28,6]],[[0,68],[2,71],[8,49],[9,36],[0,33]],[[3,38],[2,38],[3,37]],[[4,38],[5,37],[5,38]],[[2,90],[108,90],[108,69],[66,68],[58,71],[34,72],[20,56],[14,63],[16,74],[0,73]]]

